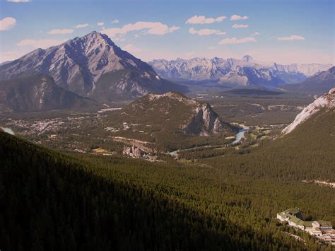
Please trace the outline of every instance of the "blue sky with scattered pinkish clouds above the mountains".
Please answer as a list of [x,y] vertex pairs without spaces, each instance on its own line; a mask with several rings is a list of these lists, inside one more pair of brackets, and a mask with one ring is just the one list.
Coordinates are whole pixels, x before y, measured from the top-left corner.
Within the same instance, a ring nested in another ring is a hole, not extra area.
[[0,0],[0,62],[97,30],[143,60],[334,64],[334,2]]

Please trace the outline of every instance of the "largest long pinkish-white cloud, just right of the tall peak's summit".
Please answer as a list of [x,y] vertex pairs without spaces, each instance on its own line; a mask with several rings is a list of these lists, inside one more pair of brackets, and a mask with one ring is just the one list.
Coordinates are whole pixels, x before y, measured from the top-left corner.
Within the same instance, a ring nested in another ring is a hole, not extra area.
[[136,22],[124,25],[122,28],[109,28],[102,30],[102,33],[110,36],[114,40],[120,40],[124,35],[131,31],[144,30],[143,34],[154,34],[154,35],[164,35],[166,33],[172,33],[175,30],[179,30],[180,27],[177,26],[167,26],[160,22]]

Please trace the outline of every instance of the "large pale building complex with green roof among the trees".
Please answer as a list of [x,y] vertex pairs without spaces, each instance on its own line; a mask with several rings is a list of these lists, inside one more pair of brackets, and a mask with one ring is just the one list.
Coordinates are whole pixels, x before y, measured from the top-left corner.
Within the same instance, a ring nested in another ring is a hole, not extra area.
[[315,235],[319,240],[335,245],[335,230],[330,221],[304,221],[299,209],[288,209],[277,214],[281,222]]

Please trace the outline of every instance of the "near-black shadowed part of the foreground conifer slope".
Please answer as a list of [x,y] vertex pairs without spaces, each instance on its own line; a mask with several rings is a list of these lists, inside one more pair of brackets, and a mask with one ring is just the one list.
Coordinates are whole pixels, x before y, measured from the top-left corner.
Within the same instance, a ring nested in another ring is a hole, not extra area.
[[[0,202],[6,205],[0,206],[0,243],[6,250],[247,247],[204,228],[219,222],[163,192],[171,187],[143,185],[117,171],[148,163],[110,158],[108,165],[92,165],[3,132],[0,142]],[[225,228],[235,233],[238,227],[226,221]]]

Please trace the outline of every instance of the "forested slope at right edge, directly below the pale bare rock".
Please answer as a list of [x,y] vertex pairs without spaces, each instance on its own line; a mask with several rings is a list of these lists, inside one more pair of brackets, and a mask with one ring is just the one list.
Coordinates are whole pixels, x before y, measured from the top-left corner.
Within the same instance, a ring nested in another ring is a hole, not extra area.
[[[266,142],[240,158],[201,160],[229,173],[275,180],[335,181],[335,112],[320,110],[286,136]],[[241,149],[240,153],[248,151]],[[335,213],[335,212],[334,212]]]

